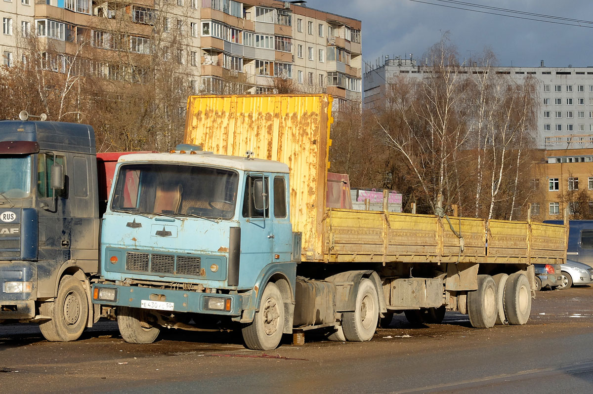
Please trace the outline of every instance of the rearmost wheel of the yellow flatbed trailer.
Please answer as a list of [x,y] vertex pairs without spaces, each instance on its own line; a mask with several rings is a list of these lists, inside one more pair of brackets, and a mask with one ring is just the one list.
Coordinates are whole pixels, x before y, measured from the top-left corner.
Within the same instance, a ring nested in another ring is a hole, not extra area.
[[509,324],[527,323],[531,312],[531,287],[524,273],[509,275],[505,286],[504,305]]

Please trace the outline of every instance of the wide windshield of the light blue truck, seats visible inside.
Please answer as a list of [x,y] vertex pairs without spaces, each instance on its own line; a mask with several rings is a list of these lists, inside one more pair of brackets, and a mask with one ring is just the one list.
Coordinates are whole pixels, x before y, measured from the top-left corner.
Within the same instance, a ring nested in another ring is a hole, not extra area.
[[111,209],[231,219],[237,187],[238,174],[228,169],[173,164],[122,165]]

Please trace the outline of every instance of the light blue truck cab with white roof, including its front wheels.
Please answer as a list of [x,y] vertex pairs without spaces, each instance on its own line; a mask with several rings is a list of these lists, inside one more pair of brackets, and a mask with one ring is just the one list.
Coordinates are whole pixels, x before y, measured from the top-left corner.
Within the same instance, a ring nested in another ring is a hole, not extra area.
[[248,347],[278,345],[291,332],[300,257],[288,172],[280,162],[197,150],[122,156],[93,303],[117,308],[128,342],[227,316],[243,323]]

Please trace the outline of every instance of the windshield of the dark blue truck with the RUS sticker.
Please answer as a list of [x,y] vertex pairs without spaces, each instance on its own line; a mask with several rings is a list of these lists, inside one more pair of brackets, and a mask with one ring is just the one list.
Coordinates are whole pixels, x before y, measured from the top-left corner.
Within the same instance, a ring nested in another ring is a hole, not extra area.
[[0,193],[6,198],[31,195],[31,156],[0,155]]

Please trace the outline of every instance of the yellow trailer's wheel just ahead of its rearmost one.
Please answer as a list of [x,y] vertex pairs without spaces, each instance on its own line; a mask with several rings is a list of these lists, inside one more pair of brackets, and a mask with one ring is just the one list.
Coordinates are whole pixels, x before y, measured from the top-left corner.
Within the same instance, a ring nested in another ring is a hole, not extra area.
[[489,275],[478,275],[478,289],[467,292],[467,310],[475,328],[490,328],[496,323],[496,283]]

